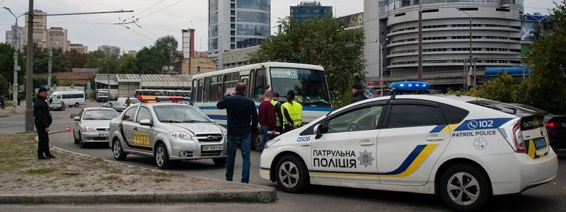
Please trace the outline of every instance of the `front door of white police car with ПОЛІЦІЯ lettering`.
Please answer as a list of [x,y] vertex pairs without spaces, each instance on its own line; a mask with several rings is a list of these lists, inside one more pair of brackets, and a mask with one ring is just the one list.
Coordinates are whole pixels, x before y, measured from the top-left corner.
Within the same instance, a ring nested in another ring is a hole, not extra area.
[[379,184],[376,141],[385,108],[371,102],[330,115],[322,136],[311,140],[311,177]]

